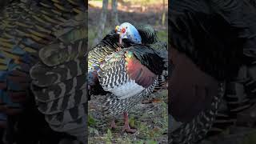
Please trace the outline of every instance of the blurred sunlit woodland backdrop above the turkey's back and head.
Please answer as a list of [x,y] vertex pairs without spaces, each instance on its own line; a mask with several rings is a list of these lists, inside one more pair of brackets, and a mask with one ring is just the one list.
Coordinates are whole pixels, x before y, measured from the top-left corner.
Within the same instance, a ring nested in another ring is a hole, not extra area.
[[97,44],[122,22],[134,26],[150,24],[160,40],[167,42],[167,0],[90,0],[89,46]]

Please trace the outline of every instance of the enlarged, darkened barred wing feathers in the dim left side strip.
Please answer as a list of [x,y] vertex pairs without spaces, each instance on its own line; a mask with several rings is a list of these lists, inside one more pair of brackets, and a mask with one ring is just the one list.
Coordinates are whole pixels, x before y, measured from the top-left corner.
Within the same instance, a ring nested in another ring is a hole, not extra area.
[[[82,25],[86,22],[82,21]],[[30,70],[38,110],[53,130],[86,142],[86,27],[79,26],[39,52]]]

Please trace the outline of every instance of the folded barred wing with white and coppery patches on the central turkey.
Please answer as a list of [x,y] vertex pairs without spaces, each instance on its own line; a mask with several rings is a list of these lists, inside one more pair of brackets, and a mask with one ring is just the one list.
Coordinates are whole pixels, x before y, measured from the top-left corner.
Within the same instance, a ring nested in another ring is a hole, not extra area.
[[130,110],[150,94],[163,70],[162,58],[142,45],[110,54],[105,61],[98,70],[98,80],[103,90],[111,93],[103,106],[106,117]]

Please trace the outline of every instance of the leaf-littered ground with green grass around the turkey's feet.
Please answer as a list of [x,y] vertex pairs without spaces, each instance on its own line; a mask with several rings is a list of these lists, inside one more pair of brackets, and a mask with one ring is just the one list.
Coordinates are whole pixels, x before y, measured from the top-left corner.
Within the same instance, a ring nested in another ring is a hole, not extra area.
[[[94,103],[100,96],[91,98],[89,102],[89,144],[93,143],[120,143],[120,144],[157,144],[168,142],[168,114],[167,114],[167,90],[159,90],[146,101],[134,106],[129,113],[130,126],[137,131],[134,134],[122,132],[123,117],[115,119],[117,128],[110,130],[110,122],[104,118],[95,118]],[[96,108],[97,109],[97,108]]]

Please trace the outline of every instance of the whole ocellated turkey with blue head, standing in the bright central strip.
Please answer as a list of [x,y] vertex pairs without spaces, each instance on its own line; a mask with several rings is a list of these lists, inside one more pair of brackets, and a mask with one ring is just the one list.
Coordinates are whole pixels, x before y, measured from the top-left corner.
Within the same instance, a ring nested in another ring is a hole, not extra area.
[[90,50],[88,61],[89,92],[104,95],[103,115],[113,120],[124,114],[123,130],[134,133],[127,112],[167,78],[166,43],[151,26],[125,22]]

